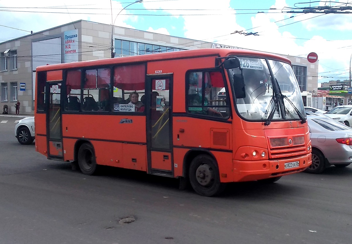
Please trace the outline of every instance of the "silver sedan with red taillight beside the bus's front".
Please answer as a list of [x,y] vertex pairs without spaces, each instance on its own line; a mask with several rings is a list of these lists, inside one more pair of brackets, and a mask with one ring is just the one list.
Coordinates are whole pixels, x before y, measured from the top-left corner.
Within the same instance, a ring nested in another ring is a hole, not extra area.
[[312,141],[312,164],[308,173],[321,173],[326,167],[346,167],[352,163],[352,129],[321,115],[307,114]]

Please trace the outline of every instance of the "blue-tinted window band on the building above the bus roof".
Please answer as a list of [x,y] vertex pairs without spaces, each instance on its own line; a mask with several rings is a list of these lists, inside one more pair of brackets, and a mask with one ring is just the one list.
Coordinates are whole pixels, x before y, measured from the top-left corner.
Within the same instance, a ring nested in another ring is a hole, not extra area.
[[166,53],[184,49],[115,39],[115,57]]

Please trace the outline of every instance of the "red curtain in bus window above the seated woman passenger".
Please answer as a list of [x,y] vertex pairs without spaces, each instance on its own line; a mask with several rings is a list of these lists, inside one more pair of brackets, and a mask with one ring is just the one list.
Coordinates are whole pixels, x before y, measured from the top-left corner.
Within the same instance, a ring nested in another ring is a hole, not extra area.
[[144,90],[145,65],[125,65],[115,67],[114,86],[122,90]]

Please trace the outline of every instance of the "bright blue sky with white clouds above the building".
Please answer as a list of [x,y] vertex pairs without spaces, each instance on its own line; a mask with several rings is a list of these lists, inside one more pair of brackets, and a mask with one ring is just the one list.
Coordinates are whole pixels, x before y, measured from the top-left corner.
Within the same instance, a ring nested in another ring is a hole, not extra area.
[[[116,26],[171,36],[300,57],[313,51],[319,59],[319,74],[315,74],[319,82],[349,79],[352,14],[282,12],[304,2],[293,0],[144,0],[117,16],[132,2],[0,0],[0,42],[79,19],[111,24],[113,16]],[[296,6],[352,6],[346,2],[307,1]],[[236,30],[258,32],[259,36],[231,34]]]

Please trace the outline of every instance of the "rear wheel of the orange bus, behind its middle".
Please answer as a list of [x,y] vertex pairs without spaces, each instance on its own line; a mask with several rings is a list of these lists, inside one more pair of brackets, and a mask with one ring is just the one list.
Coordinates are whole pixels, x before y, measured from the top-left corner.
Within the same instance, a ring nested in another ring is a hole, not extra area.
[[84,175],[93,175],[96,172],[94,148],[89,143],[84,143],[78,150],[78,165]]

